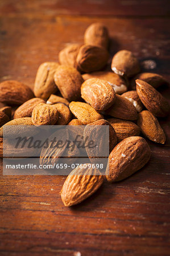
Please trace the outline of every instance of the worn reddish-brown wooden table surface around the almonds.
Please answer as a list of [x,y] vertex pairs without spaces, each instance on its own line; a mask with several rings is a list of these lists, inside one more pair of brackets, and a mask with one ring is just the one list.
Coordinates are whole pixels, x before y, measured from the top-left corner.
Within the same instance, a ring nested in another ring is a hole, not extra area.
[[[31,87],[43,61],[55,61],[86,27],[109,28],[110,53],[129,49],[169,75],[168,1],[1,0],[1,81]],[[160,89],[168,97],[169,89]],[[168,118],[160,120],[169,137]],[[59,192],[65,176],[1,176],[0,255],[169,255],[169,139],[150,142],[143,170],[109,184],[73,208]],[[2,165],[2,159],[1,159]],[[2,174],[2,168],[1,168]]]

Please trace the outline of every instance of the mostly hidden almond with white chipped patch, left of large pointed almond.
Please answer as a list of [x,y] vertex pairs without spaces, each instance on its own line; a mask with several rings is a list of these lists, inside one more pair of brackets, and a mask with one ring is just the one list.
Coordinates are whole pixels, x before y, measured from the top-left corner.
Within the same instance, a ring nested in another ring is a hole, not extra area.
[[125,98],[127,98],[127,100],[131,101],[138,112],[142,111],[143,104],[140,101],[140,98],[139,98],[136,90],[129,90],[128,92],[123,93],[122,97],[125,97]]

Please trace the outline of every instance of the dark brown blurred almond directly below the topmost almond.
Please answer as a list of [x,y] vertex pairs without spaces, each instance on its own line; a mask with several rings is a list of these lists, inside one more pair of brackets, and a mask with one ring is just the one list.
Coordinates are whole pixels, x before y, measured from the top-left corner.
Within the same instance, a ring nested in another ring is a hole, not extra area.
[[85,44],[78,51],[76,67],[82,73],[90,73],[105,67],[108,59],[109,53],[105,48]]

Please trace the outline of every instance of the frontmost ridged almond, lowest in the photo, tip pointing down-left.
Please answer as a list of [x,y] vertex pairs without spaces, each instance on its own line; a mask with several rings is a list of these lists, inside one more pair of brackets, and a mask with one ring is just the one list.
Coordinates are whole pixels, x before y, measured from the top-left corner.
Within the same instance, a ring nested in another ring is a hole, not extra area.
[[60,192],[64,205],[71,207],[79,204],[96,192],[103,183],[103,176],[99,174],[97,169],[74,169],[68,175]]

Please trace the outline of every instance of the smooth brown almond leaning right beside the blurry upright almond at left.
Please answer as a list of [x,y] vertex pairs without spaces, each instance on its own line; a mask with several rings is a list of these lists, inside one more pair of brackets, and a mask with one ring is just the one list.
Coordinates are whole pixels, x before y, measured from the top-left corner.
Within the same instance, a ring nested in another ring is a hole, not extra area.
[[60,65],[55,72],[54,80],[61,95],[66,98],[66,100],[80,100],[80,88],[84,80],[76,68]]

